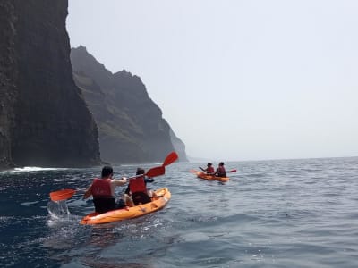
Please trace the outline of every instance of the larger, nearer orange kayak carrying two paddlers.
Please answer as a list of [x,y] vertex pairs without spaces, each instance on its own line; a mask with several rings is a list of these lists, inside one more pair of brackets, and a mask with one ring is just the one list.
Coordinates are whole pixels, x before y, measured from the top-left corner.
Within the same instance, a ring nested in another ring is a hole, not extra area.
[[104,214],[93,212],[86,215],[81,220],[81,224],[101,224],[108,222],[119,222],[127,219],[141,217],[162,209],[170,200],[171,194],[167,188],[159,188],[155,191],[158,197],[152,198],[152,201],[144,205],[126,206],[122,209],[116,209]]

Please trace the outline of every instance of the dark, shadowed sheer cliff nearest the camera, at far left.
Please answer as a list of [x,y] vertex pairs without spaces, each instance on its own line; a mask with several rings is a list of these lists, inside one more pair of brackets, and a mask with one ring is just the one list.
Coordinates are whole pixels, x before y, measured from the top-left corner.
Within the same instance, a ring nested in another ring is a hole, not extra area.
[[67,4],[1,2],[0,147],[5,153],[0,157],[8,158],[3,166],[100,162],[97,126],[72,79]]

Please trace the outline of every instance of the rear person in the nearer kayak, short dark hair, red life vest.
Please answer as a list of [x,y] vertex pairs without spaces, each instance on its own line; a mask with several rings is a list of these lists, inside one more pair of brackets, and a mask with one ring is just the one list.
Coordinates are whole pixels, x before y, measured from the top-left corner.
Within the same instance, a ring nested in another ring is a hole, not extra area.
[[115,187],[123,186],[127,182],[127,179],[125,177],[120,180],[112,178],[113,168],[108,165],[104,166],[101,178],[94,179],[90,188],[83,195],[83,199],[93,196],[95,211],[99,214],[124,208],[125,205],[132,206],[132,199],[125,194],[123,199],[120,199],[118,203],[115,202]]

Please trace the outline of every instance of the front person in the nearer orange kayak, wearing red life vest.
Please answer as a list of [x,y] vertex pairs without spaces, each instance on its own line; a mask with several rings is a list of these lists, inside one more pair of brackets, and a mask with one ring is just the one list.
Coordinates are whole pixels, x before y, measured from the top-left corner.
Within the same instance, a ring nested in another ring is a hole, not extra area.
[[134,205],[147,204],[151,202],[151,197],[156,197],[154,191],[147,188],[147,182],[153,182],[154,179],[146,178],[145,171],[137,168],[136,177],[129,180],[129,185],[125,190],[125,194],[132,193],[132,201]]

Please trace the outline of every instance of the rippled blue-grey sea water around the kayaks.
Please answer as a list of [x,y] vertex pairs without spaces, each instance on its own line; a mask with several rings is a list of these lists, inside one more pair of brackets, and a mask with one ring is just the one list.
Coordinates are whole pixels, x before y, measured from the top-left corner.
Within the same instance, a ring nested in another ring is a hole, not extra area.
[[79,224],[93,210],[83,192],[62,206],[48,194],[100,167],[0,173],[0,266],[358,267],[357,157],[226,163],[226,183],[195,178],[199,165],[172,163],[149,185],[172,193],[158,213],[95,227]]

